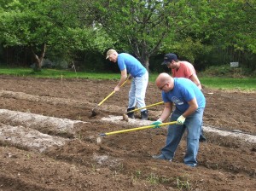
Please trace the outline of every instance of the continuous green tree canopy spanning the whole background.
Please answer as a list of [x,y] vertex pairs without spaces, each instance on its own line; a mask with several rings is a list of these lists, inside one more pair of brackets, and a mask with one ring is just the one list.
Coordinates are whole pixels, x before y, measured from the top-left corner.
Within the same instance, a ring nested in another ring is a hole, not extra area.
[[[174,52],[203,65],[237,60],[255,69],[253,0],[0,0],[4,47],[24,46],[38,63],[46,49],[61,55],[107,49],[150,57]],[[228,56],[226,56],[228,55]]]

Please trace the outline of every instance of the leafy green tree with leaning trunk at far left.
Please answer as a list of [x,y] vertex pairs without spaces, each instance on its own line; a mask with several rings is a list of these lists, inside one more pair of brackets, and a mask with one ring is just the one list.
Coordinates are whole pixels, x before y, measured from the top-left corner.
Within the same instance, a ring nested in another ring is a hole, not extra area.
[[3,44],[31,49],[36,71],[41,70],[49,46],[62,54],[73,49],[102,49],[105,42],[99,38],[108,39],[108,36],[100,27],[92,26],[92,20],[87,20],[87,3],[90,0],[2,0]]

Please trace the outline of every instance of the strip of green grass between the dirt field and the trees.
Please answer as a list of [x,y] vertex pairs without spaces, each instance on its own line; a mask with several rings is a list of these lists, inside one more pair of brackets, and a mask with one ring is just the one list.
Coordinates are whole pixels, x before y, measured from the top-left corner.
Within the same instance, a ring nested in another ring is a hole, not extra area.
[[[68,70],[43,69],[42,72],[32,72],[31,68],[0,68],[0,75],[12,75],[31,78],[92,78],[119,80],[120,73],[110,72],[74,72]],[[149,74],[149,82],[153,82],[157,73]],[[256,78],[224,78],[204,77],[201,73],[201,84],[207,88],[220,90],[256,90]]]

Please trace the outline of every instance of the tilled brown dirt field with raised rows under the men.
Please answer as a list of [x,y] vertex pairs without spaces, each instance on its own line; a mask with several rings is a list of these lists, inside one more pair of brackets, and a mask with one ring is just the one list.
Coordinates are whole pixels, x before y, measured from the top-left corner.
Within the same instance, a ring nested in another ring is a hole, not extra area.
[[[0,190],[256,190],[254,141],[207,130],[195,168],[183,165],[186,135],[172,163],[152,159],[165,145],[166,127],[96,144],[99,133],[150,124],[162,111],[148,108],[150,121],[121,120],[128,83],[90,117],[117,83],[0,76]],[[256,135],[255,92],[203,92],[206,127]],[[146,103],[159,101],[160,90],[148,84]]]

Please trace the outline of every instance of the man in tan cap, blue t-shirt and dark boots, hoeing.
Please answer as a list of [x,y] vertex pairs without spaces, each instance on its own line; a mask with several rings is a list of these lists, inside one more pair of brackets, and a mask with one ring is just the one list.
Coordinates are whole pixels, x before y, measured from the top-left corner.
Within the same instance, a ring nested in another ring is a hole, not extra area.
[[[116,50],[109,49],[106,59],[117,62],[121,71],[119,84],[114,88],[114,91],[119,91],[121,84],[127,78],[127,72],[131,74],[131,89],[129,91],[129,103],[127,112],[134,110],[137,107],[146,107],[145,95],[148,86],[148,71],[140,61],[127,53],[118,54]],[[127,113],[128,117],[134,119],[134,113]],[[143,120],[148,119],[148,110],[141,109],[141,117]]]

